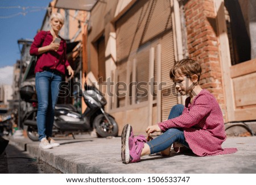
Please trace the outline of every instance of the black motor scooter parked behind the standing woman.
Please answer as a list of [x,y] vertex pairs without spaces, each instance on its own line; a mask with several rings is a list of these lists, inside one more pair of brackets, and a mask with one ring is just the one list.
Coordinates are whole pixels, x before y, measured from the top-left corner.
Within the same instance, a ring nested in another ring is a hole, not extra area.
[[[28,90],[32,94],[32,88],[33,87],[24,87],[23,94],[28,93]],[[72,104],[56,104],[53,134],[71,133],[73,138],[75,138],[73,135],[75,132],[88,132],[96,129],[98,137],[117,136],[118,125],[114,117],[104,111],[104,107],[107,103],[104,95],[102,95],[96,87],[85,85],[85,90],[80,91],[79,96],[84,98],[87,106],[82,114],[80,114],[77,108]],[[36,125],[37,108],[35,107],[35,100],[33,104],[34,109],[26,113],[23,118],[23,123],[27,126],[27,136],[32,141],[38,141],[38,129]]]

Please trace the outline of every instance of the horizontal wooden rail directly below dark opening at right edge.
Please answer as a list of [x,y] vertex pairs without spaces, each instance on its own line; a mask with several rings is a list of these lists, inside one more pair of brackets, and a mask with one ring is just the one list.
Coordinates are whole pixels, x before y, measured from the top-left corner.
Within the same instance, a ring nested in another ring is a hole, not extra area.
[[256,58],[230,67],[231,78],[256,72]]

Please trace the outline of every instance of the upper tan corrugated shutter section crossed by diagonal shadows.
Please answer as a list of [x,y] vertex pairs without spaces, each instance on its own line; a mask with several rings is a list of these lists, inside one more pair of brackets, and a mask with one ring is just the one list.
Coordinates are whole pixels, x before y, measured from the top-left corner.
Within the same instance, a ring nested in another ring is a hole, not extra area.
[[117,60],[171,28],[170,0],[138,1],[116,24]]

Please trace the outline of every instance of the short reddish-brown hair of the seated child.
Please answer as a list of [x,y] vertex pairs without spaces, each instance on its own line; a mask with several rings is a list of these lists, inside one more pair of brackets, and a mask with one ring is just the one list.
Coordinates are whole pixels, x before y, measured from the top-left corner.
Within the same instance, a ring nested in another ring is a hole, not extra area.
[[199,62],[192,60],[190,58],[185,58],[183,60],[177,61],[172,69],[170,70],[170,78],[175,81],[177,75],[184,75],[185,77],[192,77],[196,74],[198,76],[198,81],[200,80],[200,75],[202,68]]

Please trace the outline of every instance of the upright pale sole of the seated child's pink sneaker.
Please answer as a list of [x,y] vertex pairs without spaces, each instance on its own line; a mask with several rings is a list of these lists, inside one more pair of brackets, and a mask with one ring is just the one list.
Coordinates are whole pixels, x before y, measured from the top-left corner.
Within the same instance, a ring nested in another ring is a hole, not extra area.
[[130,150],[129,150],[129,136],[131,134],[131,125],[126,124],[125,127],[123,127],[122,131],[122,149],[121,149],[121,157],[122,162],[127,164],[130,162]]

